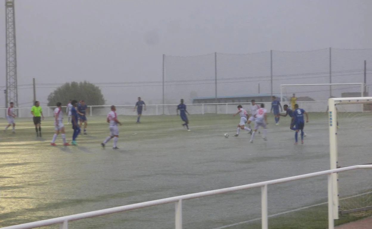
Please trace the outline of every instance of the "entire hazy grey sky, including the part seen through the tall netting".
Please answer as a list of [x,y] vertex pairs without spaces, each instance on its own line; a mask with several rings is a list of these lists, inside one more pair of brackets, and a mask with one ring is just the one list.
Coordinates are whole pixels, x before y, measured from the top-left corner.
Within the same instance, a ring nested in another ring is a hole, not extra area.
[[[270,50],[274,94],[280,84],[329,83],[329,47],[333,83],[363,82],[367,60],[372,85],[371,7],[370,0],[16,0],[19,107],[32,104],[32,78],[42,106],[58,86],[84,80],[108,105],[134,105],[138,96],[161,104],[163,54],[166,103],[214,96],[216,72],[218,96],[257,94],[258,84],[270,94]],[[4,14],[3,6],[1,34]],[[5,36],[0,43],[4,89]],[[285,92],[323,100],[328,89]],[[334,96],[360,91],[333,89]]]

